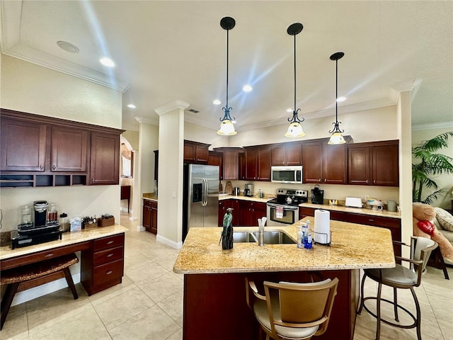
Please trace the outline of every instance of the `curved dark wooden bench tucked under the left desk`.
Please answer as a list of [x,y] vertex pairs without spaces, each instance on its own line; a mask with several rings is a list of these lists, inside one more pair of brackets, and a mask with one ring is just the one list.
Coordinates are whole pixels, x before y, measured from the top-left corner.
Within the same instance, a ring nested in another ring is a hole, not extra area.
[[38,263],[31,263],[25,266],[1,271],[0,283],[1,285],[7,286],[3,298],[1,299],[0,329],[3,328],[6,316],[9,312],[9,308],[11,307],[11,303],[13,302],[14,295],[16,295],[21,283],[25,283],[35,278],[42,278],[43,276],[57,273],[58,271],[63,271],[69,288],[71,288],[74,300],[76,300],[79,296],[77,295],[74,281],[72,280],[71,273],[69,272],[69,266],[77,262],[79,262],[79,259],[77,259],[76,254],[72,253],[56,257],[55,259],[45,260]]

